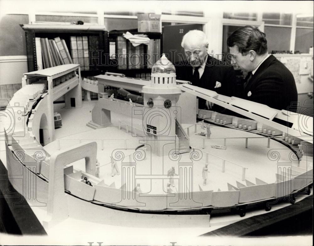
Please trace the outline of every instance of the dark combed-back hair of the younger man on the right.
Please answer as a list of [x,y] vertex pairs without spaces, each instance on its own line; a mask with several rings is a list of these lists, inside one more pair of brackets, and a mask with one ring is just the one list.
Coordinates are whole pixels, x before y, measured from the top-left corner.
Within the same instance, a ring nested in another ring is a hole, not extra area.
[[258,55],[267,52],[266,34],[255,26],[243,26],[235,30],[227,39],[229,47],[238,46],[239,52],[243,55],[254,50]]

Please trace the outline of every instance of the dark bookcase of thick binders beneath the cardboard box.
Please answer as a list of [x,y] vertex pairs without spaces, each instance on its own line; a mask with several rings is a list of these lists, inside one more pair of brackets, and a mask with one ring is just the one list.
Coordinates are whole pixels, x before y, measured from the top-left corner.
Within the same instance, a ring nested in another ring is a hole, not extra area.
[[[115,42],[115,53],[116,54],[121,54],[119,52],[119,49],[117,47],[117,37],[123,37],[123,33],[126,33],[127,30],[123,30],[123,31],[110,31],[108,32],[108,42]],[[159,49],[158,49],[158,53],[162,54],[162,33],[159,32],[135,32],[135,31],[129,31],[131,34],[135,35],[135,34],[145,34],[147,35],[151,40],[159,40]],[[129,45],[130,41],[126,40],[126,54],[130,54],[129,51]],[[132,45],[131,45],[132,46]],[[143,54],[146,55],[148,54],[148,46],[147,45],[142,45],[143,46]],[[130,67],[130,61],[128,60],[128,56],[126,59],[126,65],[124,68],[119,68],[115,63],[118,62],[118,59],[116,59],[113,63],[111,63],[111,66],[108,67],[108,71],[109,72],[113,72],[113,73],[121,73],[121,74],[125,74],[128,77],[138,77],[140,78],[138,75],[142,74],[143,79],[150,79],[150,73],[151,73],[151,67],[147,66],[147,60],[145,59],[145,56],[142,59],[142,61],[144,60],[144,62],[142,64],[142,66],[140,66],[140,68],[131,68]],[[147,57],[146,57],[147,58]],[[158,58],[155,58],[155,61],[157,61]],[[154,65],[154,61],[152,61],[152,65]],[[147,74],[147,77],[143,76],[144,74]],[[148,78],[149,77],[149,78]]]

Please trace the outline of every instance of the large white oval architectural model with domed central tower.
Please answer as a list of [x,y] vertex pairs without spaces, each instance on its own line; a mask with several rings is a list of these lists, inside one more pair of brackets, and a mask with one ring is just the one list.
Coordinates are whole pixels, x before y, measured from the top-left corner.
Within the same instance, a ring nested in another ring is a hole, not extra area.
[[[83,81],[76,64],[26,73],[5,111],[10,182],[44,211],[45,228],[67,218],[208,227],[220,211],[245,216],[248,206],[268,211],[311,193],[313,118],[177,82],[165,56],[151,81],[96,78]],[[115,99],[106,86],[141,92],[144,105]],[[98,101],[82,103],[82,88],[99,93]],[[55,129],[53,101],[61,96]],[[245,118],[197,112],[196,96]]]

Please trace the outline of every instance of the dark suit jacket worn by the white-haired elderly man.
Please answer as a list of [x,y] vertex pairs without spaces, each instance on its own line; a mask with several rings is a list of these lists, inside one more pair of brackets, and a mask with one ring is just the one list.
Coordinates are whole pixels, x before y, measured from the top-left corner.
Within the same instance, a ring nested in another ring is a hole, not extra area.
[[[236,82],[236,74],[232,66],[228,66],[225,62],[219,61],[210,55],[207,56],[204,73],[200,81],[193,80],[193,68],[191,65],[180,66],[176,64],[176,79],[187,80],[192,85],[214,90],[218,94],[225,96],[235,96],[234,88]],[[220,88],[214,88],[216,81],[221,83]],[[198,107],[207,109],[205,107],[205,100],[199,99]]]

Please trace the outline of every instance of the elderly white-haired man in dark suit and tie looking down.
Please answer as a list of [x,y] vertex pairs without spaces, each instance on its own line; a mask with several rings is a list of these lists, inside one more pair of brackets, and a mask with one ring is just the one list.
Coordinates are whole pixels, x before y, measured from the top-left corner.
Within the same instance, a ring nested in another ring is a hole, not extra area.
[[[235,71],[232,65],[228,66],[208,54],[208,40],[204,32],[189,31],[183,36],[181,46],[188,64],[185,64],[186,61],[176,63],[177,79],[190,81],[192,85],[214,90],[225,96],[234,96]],[[210,109],[211,104],[199,98],[198,108]]]

